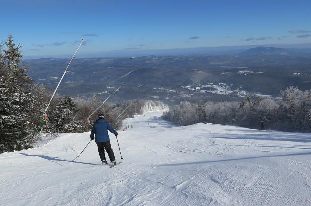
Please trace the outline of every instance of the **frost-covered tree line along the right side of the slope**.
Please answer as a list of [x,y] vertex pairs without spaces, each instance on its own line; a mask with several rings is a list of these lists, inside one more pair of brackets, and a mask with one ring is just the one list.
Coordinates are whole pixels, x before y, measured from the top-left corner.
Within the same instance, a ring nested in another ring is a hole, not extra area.
[[237,125],[259,129],[311,132],[311,90],[289,87],[279,98],[248,95],[240,102],[181,102],[162,117],[176,125],[198,122]]

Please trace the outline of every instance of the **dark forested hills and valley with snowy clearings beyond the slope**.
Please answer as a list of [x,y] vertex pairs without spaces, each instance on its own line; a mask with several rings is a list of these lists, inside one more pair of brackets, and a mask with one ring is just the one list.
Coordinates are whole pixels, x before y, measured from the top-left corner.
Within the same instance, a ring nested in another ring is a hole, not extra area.
[[[96,94],[105,99],[125,82],[112,102],[143,98],[178,104],[184,100],[239,100],[250,92],[278,97],[280,90],[291,85],[301,90],[311,87],[310,55],[284,55],[279,50],[261,55],[258,48],[255,50],[256,55],[74,59],[59,93],[80,97]],[[25,67],[37,83],[53,89],[68,61],[33,59],[26,60]]]

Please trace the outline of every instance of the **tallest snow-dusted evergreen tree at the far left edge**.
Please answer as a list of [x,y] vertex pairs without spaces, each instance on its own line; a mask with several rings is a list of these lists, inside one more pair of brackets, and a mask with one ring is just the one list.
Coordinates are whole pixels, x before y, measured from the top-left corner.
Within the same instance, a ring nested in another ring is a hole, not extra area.
[[19,65],[21,45],[15,47],[9,36],[6,46],[0,54],[0,152],[30,147],[34,135],[30,119],[40,109],[34,106],[38,98],[25,85],[31,80]]

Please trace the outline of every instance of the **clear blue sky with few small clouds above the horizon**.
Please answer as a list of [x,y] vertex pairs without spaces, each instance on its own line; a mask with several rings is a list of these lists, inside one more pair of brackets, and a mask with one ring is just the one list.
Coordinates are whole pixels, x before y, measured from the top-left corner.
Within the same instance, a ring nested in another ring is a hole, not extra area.
[[311,1],[1,1],[0,40],[25,56],[311,43]]

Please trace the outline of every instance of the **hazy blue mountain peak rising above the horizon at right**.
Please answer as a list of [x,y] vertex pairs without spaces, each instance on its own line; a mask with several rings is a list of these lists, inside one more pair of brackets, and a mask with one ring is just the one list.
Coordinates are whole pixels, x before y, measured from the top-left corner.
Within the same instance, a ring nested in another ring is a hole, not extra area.
[[277,47],[255,47],[240,52],[239,55],[296,55],[299,52],[290,51],[288,49],[282,49]]

